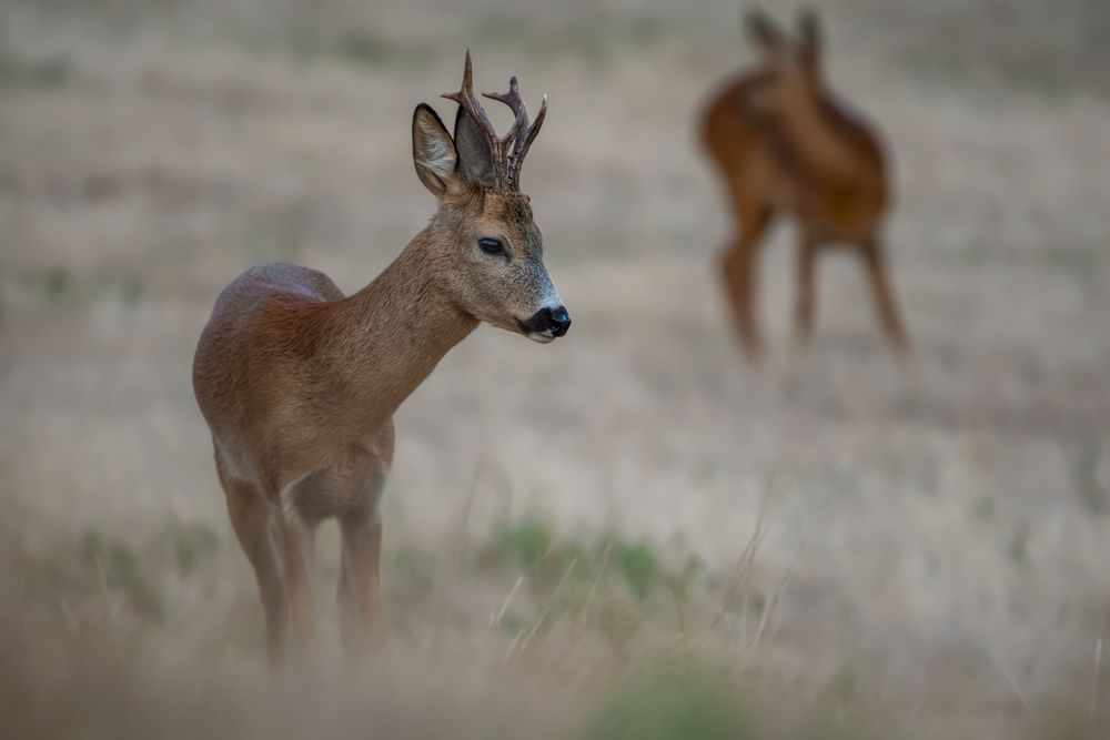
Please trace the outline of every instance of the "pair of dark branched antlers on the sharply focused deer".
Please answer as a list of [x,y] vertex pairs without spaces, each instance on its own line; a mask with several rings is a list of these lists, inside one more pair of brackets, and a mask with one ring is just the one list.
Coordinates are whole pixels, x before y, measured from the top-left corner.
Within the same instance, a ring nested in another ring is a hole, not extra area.
[[[441,97],[458,103],[477,124],[482,128],[490,143],[490,151],[493,154],[494,180],[498,190],[507,192],[518,191],[521,187],[521,165],[524,156],[528,153],[532,142],[539,133],[544,118],[547,115],[547,95],[544,95],[543,104],[539,107],[539,114],[536,115],[535,123],[528,122],[528,111],[521,98],[521,88],[516,82],[516,75],[509,78],[508,92],[483,92],[490,100],[508,105],[515,116],[513,125],[504,136],[497,135],[493,122],[486,115],[482,103],[474,95],[474,75],[471,67],[471,50],[466,50],[466,65],[463,68],[463,84],[457,92],[444,92]],[[512,151],[509,145],[512,144]]]

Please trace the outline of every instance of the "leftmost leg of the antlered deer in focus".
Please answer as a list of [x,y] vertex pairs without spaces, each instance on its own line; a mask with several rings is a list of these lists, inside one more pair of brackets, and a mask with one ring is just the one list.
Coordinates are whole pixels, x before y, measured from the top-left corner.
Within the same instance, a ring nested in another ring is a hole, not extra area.
[[259,595],[266,618],[266,653],[270,665],[281,665],[285,653],[285,624],[289,607],[285,585],[282,582],[281,561],[274,549],[271,527],[273,513],[263,493],[243,481],[235,480],[216,454],[216,472],[228,498],[228,514],[235,537],[254,568]]

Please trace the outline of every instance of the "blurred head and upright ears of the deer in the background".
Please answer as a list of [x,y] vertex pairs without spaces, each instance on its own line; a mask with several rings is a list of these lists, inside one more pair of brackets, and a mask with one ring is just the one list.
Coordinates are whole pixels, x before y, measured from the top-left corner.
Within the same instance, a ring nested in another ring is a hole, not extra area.
[[747,12],[748,36],[764,57],[767,75],[754,102],[771,116],[787,116],[819,98],[823,90],[821,30],[817,13],[803,10],[790,38],[758,9]]

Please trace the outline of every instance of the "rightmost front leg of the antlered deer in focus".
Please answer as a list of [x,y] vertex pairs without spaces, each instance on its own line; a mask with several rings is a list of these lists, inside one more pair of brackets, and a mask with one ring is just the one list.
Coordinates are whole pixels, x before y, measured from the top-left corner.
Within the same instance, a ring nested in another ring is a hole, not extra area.
[[340,627],[347,649],[361,652],[381,638],[382,518],[375,506],[345,515],[340,527]]

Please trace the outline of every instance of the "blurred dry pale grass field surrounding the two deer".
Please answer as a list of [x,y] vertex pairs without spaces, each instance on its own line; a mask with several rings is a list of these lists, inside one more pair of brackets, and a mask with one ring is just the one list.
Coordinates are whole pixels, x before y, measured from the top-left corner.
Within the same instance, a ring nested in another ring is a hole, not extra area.
[[[1110,6],[819,10],[909,367],[850,255],[791,351],[787,224],[741,361],[696,143],[756,59],[733,0],[3,0],[12,737],[1110,737]],[[195,341],[250,265],[353,292],[423,227],[411,114],[454,118],[467,47],[549,95],[523,181],[574,328],[483,327],[407,401],[386,645],[341,660],[326,526],[323,667],[266,679]]]

